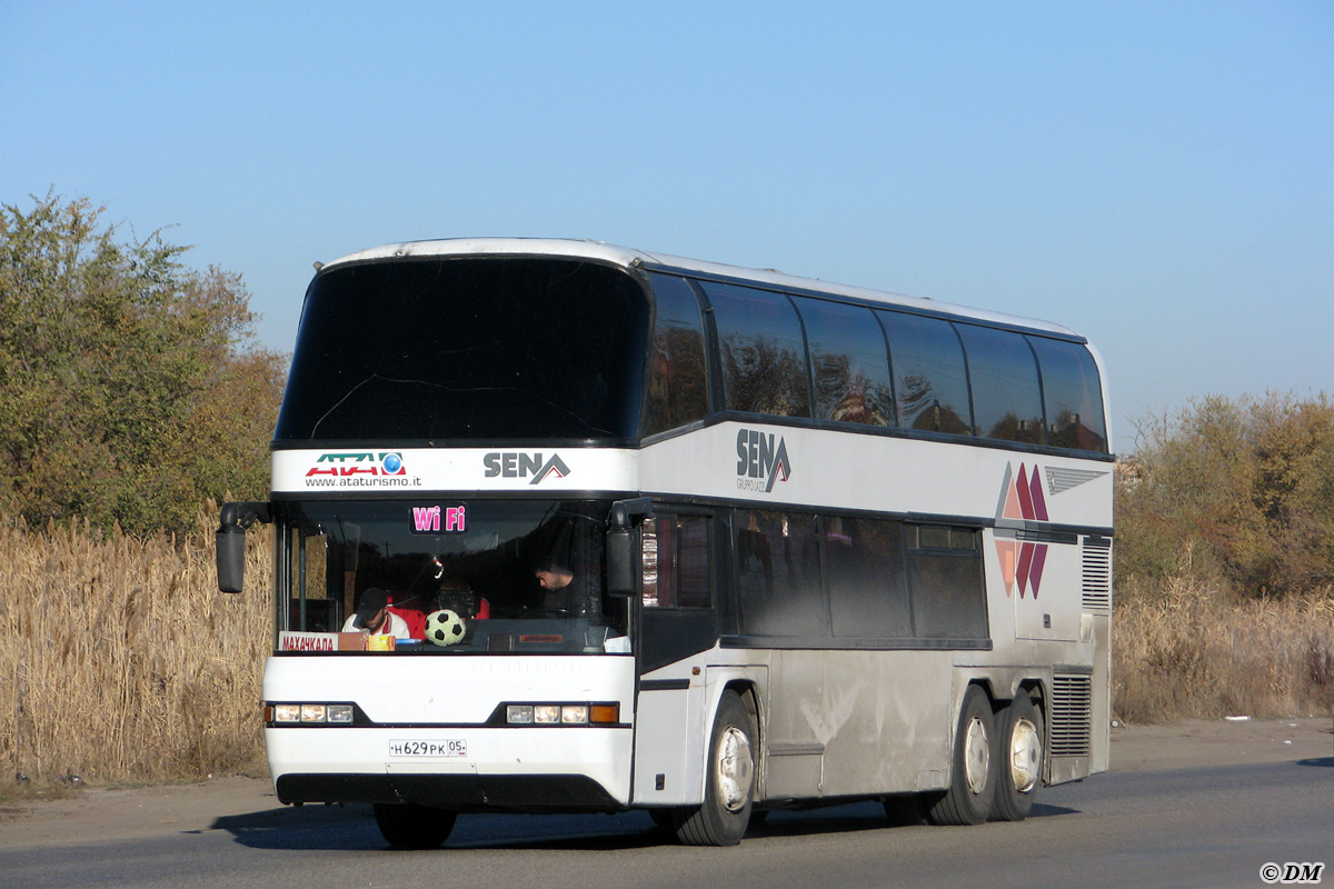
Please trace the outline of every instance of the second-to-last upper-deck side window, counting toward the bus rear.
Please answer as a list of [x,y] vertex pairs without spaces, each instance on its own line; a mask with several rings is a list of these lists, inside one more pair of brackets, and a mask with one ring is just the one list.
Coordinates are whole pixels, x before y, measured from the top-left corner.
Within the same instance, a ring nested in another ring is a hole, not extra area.
[[1033,349],[1022,333],[955,324],[968,356],[976,435],[1045,444],[1042,389]]

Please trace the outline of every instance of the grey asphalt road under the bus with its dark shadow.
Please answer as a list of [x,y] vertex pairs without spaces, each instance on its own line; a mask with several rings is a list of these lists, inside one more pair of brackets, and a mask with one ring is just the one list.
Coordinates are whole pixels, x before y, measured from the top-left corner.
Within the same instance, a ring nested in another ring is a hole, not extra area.
[[890,828],[878,804],[776,812],[740,846],[675,845],[647,816],[460,816],[446,848],[388,850],[359,806],[263,809],[208,830],[0,848],[0,886],[1263,886],[1322,862],[1334,757],[1111,773],[1041,792],[1021,824]]

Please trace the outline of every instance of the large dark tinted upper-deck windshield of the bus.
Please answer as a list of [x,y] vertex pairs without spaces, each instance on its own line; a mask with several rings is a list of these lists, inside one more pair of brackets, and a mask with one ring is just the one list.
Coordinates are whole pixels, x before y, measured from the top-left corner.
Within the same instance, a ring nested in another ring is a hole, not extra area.
[[275,441],[628,440],[648,327],[623,271],[420,259],[320,273]]

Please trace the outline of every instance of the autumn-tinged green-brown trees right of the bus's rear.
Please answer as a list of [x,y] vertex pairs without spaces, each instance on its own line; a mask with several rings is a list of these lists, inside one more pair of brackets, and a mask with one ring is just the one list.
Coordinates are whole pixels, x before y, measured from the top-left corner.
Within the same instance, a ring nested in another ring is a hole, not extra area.
[[1194,401],[1141,427],[1118,472],[1117,572],[1191,574],[1246,596],[1334,585],[1334,403]]

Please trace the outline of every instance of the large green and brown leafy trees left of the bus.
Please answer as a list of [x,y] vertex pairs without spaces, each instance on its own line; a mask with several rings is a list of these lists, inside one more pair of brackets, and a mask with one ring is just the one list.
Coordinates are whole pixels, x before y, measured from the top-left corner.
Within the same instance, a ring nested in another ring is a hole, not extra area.
[[265,496],[285,357],[253,344],[237,275],[103,213],[0,209],[0,505],[177,532],[205,497]]

